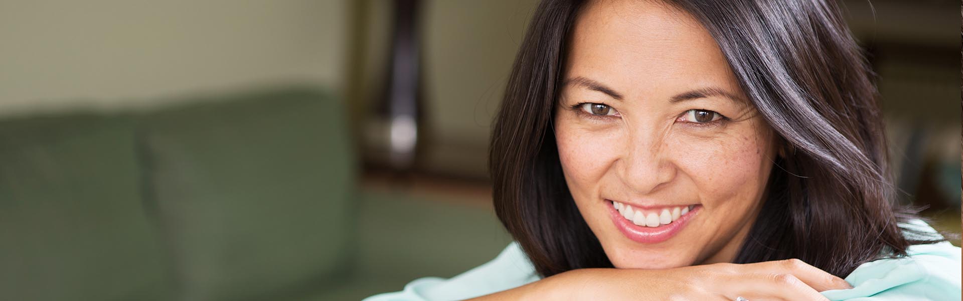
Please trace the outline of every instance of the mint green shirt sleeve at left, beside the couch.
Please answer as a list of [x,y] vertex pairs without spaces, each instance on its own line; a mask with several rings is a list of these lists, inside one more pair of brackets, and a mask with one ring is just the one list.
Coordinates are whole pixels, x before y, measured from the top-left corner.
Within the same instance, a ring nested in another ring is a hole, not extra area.
[[512,242],[494,260],[451,279],[420,278],[401,291],[377,294],[364,301],[462,300],[521,287],[538,279],[528,257],[518,243]]

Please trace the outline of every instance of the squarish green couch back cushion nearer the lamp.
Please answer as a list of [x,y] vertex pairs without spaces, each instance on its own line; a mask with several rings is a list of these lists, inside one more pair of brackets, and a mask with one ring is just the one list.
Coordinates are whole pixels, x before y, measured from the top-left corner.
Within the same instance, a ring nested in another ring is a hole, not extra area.
[[271,296],[342,273],[354,183],[342,103],[311,90],[191,103],[143,117],[182,297]]

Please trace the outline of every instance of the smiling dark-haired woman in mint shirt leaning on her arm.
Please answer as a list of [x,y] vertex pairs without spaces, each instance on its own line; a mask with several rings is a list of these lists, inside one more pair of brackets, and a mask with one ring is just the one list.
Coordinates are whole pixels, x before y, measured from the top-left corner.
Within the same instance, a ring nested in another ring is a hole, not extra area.
[[369,300],[958,300],[959,248],[891,205],[838,10],[543,1],[490,150],[516,242]]

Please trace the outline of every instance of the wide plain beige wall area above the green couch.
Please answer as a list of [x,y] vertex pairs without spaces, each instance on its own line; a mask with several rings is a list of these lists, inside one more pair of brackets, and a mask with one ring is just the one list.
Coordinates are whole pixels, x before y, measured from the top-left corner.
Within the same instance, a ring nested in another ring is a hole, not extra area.
[[0,3],[0,115],[157,105],[306,83],[340,90],[347,0]]

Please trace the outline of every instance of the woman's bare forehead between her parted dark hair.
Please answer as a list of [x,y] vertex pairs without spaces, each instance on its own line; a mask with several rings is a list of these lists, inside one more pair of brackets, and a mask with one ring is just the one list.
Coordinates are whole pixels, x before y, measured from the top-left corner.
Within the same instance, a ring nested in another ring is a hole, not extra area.
[[628,96],[706,85],[739,91],[725,57],[690,14],[656,1],[592,1],[569,41],[566,76],[609,83]]

